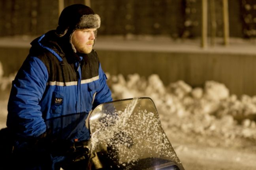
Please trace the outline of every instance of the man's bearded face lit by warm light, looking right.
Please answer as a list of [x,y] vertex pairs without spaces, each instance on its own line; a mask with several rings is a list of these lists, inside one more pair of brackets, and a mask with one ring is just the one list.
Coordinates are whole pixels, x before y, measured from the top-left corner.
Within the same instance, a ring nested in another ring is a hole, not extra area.
[[72,35],[72,44],[77,52],[89,54],[92,51],[96,28],[77,29]]

